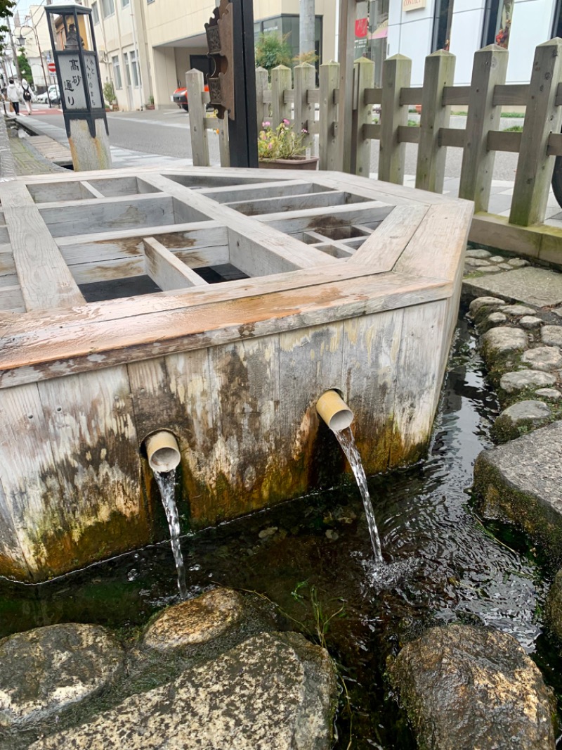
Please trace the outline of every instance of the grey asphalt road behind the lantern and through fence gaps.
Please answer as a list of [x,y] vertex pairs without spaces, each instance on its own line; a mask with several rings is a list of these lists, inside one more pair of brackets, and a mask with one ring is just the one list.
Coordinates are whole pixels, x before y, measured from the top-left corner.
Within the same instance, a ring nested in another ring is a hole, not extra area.
[[[64,120],[60,110],[59,113],[45,115],[34,113],[33,116],[37,118],[37,121],[55,125],[56,130],[49,132],[49,135],[60,142],[67,142]],[[178,107],[169,110],[145,110],[143,112],[110,112],[107,113],[107,121],[109,142],[116,148],[131,149],[145,154],[160,154],[166,157],[191,158],[190,115]],[[464,127],[464,124],[462,126]],[[213,130],[208,131],[208,142],[211,163],[219,164],[218,137]],[[513,181],[517,157],[518,154],[498,152],[495,157],[494,179]],[[416,160],[417,145],[408,143],[406,145],[406,175],[415,174]],[[460,148],[448,148],[445,177],[459,177],[461,163],[462,150]],[[371,149],[370,172],[377,171],[378,142],[374,142]]]

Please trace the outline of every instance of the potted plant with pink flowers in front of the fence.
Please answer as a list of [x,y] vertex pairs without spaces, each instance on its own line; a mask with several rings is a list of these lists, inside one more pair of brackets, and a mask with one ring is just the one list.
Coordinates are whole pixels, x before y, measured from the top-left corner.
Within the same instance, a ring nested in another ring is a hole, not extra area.
[[306,157],[307,130],[295,133],[283,120],[276,128],[265,121],[258,136],[259,166],[265,169],[318,169],[318,157]]

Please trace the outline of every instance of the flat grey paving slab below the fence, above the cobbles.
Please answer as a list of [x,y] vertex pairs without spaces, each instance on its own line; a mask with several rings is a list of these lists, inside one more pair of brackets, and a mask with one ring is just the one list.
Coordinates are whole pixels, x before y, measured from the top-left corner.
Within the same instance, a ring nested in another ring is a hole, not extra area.
[[503,297],[536,308],[562,303],[562,274],[531,266],[469,279],[463,287],[473,297]]

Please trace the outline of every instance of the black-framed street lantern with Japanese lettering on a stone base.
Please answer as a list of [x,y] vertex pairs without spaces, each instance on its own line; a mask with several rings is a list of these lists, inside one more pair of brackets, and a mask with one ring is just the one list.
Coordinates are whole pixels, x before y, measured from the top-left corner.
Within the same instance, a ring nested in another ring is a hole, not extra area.
[[74,169],[109,169],[109,130],[91,8],[70,3],[45,5],[44,10]]

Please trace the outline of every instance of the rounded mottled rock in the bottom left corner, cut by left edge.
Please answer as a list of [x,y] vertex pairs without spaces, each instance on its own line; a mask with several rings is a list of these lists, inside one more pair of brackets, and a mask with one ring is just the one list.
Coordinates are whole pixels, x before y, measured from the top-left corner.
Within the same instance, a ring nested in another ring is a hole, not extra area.
[[0,642],[0,726],[46,718],[100,691],[123,663],[96,625],[49,625]]

